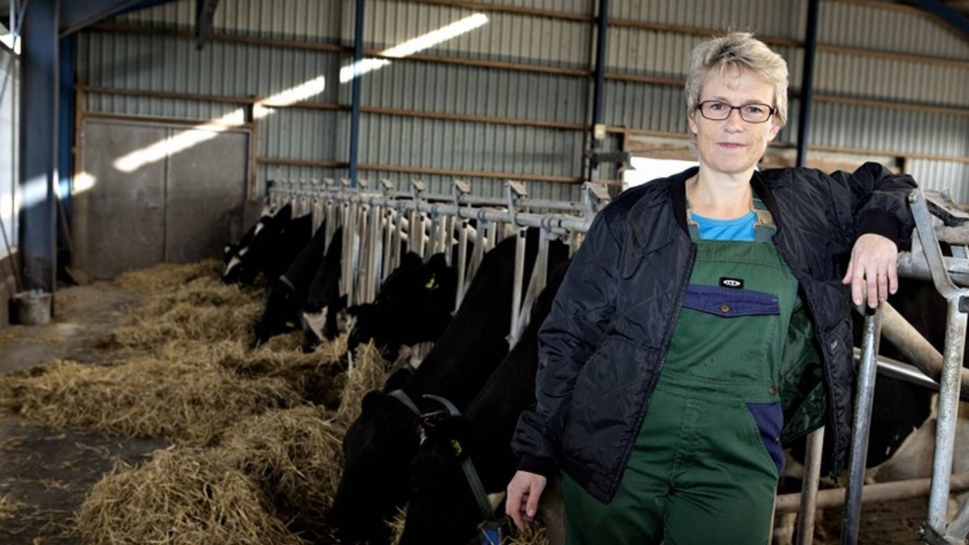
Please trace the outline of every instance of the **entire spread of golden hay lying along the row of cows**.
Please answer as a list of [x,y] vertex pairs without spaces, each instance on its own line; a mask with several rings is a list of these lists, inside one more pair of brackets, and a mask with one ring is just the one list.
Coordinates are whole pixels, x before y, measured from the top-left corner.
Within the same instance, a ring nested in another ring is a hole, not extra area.
[[178,443],[94,487],[77,516],[85,541],[325,537],[343,433],[387,363],[372,344],[348,358],[346,336],[309,354],[299,332],[251,349],[261,291],[222,284],[219,269],[209,261],[119,277],[145,297],[103,345],[113,364],[57,361],[0,377],[0,407],[34,422]]

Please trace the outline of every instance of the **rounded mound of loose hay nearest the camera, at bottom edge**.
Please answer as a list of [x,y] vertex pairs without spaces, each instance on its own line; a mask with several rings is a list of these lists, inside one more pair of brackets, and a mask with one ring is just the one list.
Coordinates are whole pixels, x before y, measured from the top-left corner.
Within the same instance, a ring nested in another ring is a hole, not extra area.
[[250,478],[190,449],[115,467],[86,497],[77,521],[88,543],[304,543],[270,514]]

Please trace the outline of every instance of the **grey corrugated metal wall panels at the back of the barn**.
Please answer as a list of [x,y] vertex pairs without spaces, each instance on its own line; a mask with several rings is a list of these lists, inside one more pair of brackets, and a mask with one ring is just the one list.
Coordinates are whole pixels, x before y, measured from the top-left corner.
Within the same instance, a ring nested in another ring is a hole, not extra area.
[[[594,0],[490,0],[495,6],[589,16]],[[194,28],[195,3],[181,0],[116,17],[114,23],[178,29]],[[393,60],[362,77],[360,176],[389,177],[398,187],[412,178],[428,181],[432,191],[447,190],[454,176],[389,172],[382,167],[506,173],[545,179],[582,176],[583,133],[589,100],[592,24],[546,16],[483,12],[487,22],[422,55],[452,62]],[[392,48],[475,15],[465,8],[403,0],[367,0],[364,47]],[[624,75],[685,78],[691,48],[703,37],[637,28],[651,23],[679,27],[746,29],[774,39],[773,48],[789,63],[792,88],[800,82],[806,0],[613,0],[610,16],[624,24],[610,27],[605,115],[611,126],[686,133],[685,100],[680,87],[628,80]],[[901,153],[969,155],[969,40],[911,10],[891,11],[836,1],[822,3],[811,144]],[[78,71],[93,86],[170,92],[266,97],[319,76],[326,87],[307,99],[350,104],[350,84],[339,82],[346,50],[310,50],[307,45],[353,43],[352,0],[223,0],[213,32],[276,43],[211,41],[196,51],[188,35],[92,30],[78,44]],[[642,26],[641,24],[639,26]],[[931,55],[961,62],[924,62],[882,58],[836,50]],[[462,60],[466,59],[466,60]],[[475,66],[488,62],[491,66]],[[495,63],[500,66],[495,67]],[[501,63],[505,63],[502,65]],[[516,66],[527,65],[527,66]],[[532,66],[534,65],[534,66]],[[542,70],[545,70],[544,72]],[[570,72],[571,71],[571,72]],[[623,80],[626,78],[626,80]],[[935,105],[958,112],[919,112],[886,105],[841,104],[824,96]],[[126,97],[90,93],[84,107],[94,112],[161,115],[193,119],[241,112],[238,105],[184,98]],[[423,112],[409,116],[407,111]],[[394,114],[396,113],[396,114]],[[478,116],[459,120],[453,116]],[[437,117],[437,118],[431,118]],[[482,117],[488,118],[483,119]],[[513,118],[552,122],[524,126],[495,122]],[[778,137],[796,139],[797,100],[791,122]],[[490,120],[491,122],[485,122]],[[272,164],[273,160],[345,162],[349,113],[305,108],[273,109],[259,120],[260,187],[274,177],[340,177],[344,168]],[[565,125],[563,128],[562,125]],[[619,146],[610,135],[607,148]],[[909,168],[923,186],[950,188],[969,202],[969,164],[914,159]],[[499,175],[495,175],[499,176]],[[608,176],[608,175],[607,175]],[[500,177],[470,177],[476,193],[500,194]],[[529,181],[533,195],[576,199],[578,185]]]

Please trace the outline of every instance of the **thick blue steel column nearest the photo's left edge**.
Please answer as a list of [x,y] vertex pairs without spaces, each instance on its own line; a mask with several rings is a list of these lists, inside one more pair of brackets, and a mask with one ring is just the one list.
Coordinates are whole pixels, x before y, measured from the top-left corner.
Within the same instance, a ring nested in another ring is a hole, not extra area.
[[52,291],[56,257],[57,26],[60,0],[31,2],[20,55],[20,252],[26,289]]

